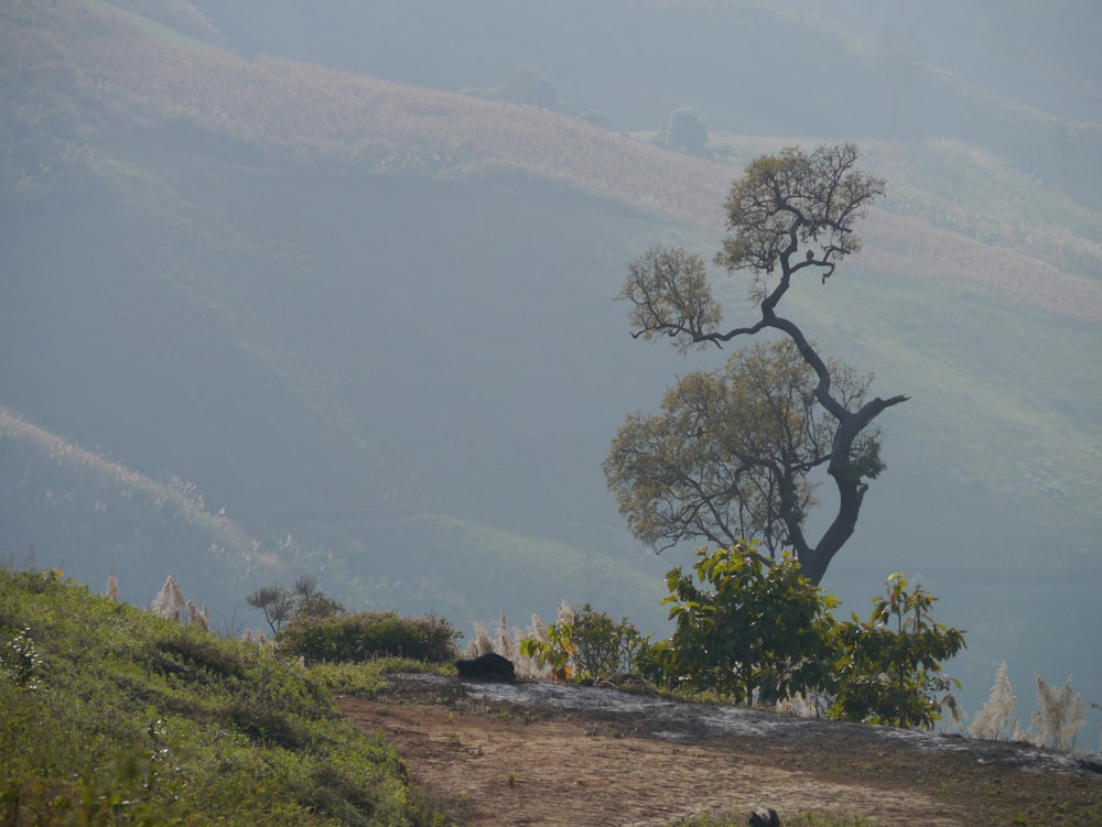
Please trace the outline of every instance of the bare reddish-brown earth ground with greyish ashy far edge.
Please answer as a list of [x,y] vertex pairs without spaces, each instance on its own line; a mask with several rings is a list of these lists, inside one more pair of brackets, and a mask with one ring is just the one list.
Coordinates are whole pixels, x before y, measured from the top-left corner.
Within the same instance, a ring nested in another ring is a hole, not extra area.
[[392,676],[342,698],[472,827],[677,824],[754,806],[873,825],[1102,825],[1102,762],[612,688]]

